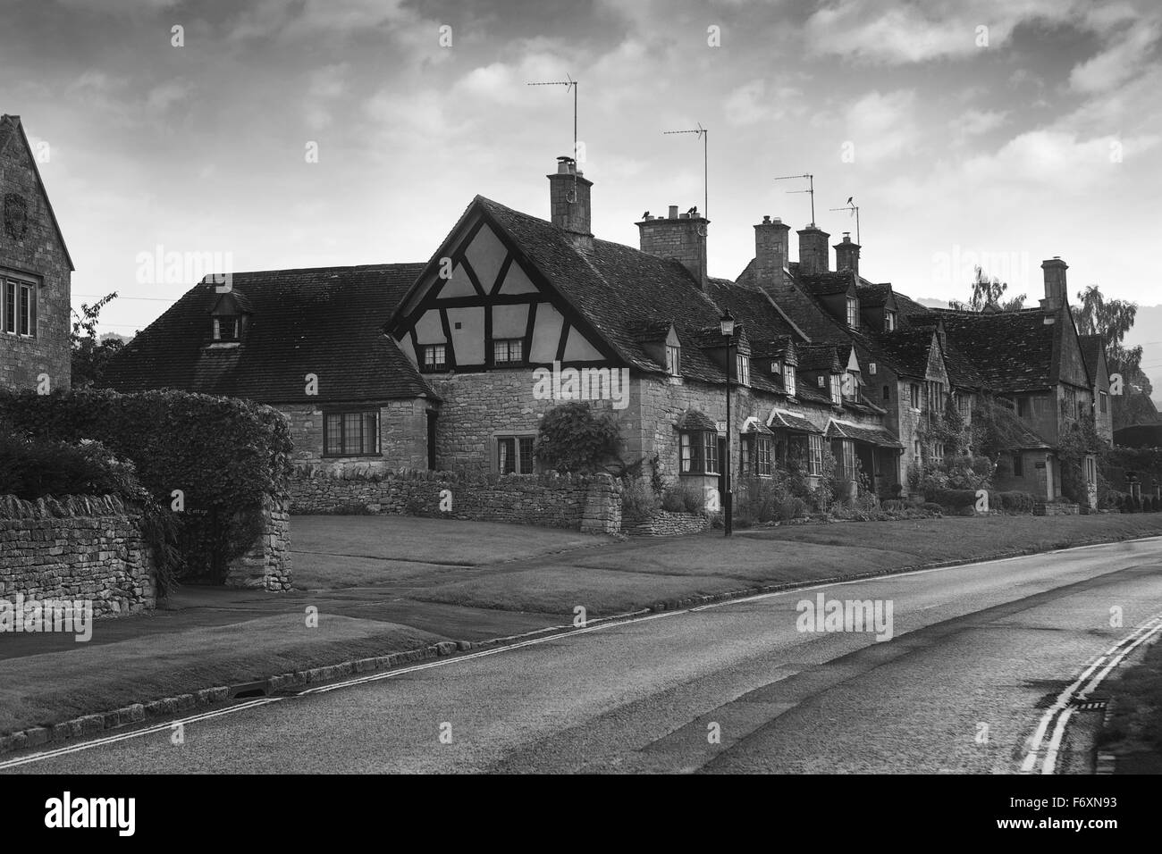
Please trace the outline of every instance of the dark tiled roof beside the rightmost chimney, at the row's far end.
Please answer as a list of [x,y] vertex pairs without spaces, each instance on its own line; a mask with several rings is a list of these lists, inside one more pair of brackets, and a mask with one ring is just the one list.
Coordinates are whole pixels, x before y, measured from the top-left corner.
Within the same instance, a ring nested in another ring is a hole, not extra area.
[[1039,308],[1020,311],[934,311],[952,347],[990,392],[1048,388],[1056,382],[1054,352],[1061,323],[1045,323]]

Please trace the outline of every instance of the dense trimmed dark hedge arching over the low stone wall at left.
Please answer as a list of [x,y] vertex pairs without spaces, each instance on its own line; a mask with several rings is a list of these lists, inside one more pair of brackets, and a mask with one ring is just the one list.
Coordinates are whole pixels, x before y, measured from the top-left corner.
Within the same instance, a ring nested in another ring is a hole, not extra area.
[[[293,443],[282,415],[227,397],[175,390],[0,390],[0,424],[74,445],[95,439],[131,460],[142,487],[173,515],[185,575],[213,573],[221,580],[257,536],[264,497],[286,491],[292,472]],[[180,512],[174,490],[182,494]]]

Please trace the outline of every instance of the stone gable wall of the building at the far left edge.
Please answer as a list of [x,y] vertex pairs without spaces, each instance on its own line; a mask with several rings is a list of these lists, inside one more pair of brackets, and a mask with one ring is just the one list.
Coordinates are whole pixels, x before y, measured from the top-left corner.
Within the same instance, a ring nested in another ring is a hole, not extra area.
[[6,274],[36,284],[36,335],[0,330],[0,386],[37,388],[48,374],[51,390],[69,388],[72,267],[19,130],[0,151],[0,278]]

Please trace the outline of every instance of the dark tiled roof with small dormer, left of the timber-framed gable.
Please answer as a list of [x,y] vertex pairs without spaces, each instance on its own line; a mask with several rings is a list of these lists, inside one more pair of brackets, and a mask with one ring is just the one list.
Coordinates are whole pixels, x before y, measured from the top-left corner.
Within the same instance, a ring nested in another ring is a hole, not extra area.
[[[177,388],[261,403],[436,397],[380,331],[422,264],[275,270],[232,275],[250,307],[239,346],[210,343],[221,295],[203,281],[109,363],[103,385],[120,392]],[[306,374],[318,394],[306,396]]]

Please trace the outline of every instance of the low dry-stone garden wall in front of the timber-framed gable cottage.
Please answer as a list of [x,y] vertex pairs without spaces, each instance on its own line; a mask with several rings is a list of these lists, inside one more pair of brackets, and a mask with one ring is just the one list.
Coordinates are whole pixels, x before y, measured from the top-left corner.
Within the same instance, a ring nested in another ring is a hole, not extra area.
[[481,475],[401,471],[340,476],[299,466],[290,511],[406,514],[480,522],[510,522],[616,533],[622,525],[621,485],[608,475]]

